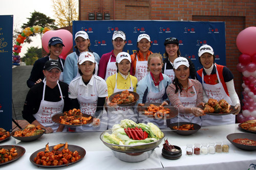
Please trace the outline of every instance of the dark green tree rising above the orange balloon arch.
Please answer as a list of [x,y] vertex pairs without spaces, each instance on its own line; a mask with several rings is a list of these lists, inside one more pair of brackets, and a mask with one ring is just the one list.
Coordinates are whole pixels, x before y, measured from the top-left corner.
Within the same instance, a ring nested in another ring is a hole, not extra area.
[[[24,30],[27,27],[33,27],[33,26],[41,26],[42,28],[50,28],[51,30],[54,30],[57,28],[55,25],[55,20],[51,19],[49,16],[46,16],[43,13],[34,11],[31,13],[31,16],[27,18],[29,21],[27,23],[23,23],[22,30]],[[31,34],[30,36],[35,36],[36,34]],[[27,37],[25,42],[30,43],[32,40],[30,37]]]

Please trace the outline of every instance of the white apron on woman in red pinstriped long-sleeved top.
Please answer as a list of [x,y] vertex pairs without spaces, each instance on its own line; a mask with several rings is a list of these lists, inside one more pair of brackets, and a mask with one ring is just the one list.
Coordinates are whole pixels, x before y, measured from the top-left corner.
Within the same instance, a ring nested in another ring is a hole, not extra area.
[[[197,91],[195,89],[194,86],[193,87],[193,90],[195,92],[195,95],[194,96],[191,96],[191,97],[182,97],[180,96],[180,90],[179,90],[179,99],[180,99],[180,102],[182,103],[182,105],[184,107],[195,107],[196,106],[196,103],[197,103]],[[169,119],[170,123],[176,123],[176,122],[188,122],[188,123],[194,123],[194,124],[198,124],[198,125],[201,125],[201,118],[198,116],[195,116],[193,113],[188,113],[188,114],[183,114],[183,113],[180,113],[178,114],[177,117],[174,117],[172,119]]]

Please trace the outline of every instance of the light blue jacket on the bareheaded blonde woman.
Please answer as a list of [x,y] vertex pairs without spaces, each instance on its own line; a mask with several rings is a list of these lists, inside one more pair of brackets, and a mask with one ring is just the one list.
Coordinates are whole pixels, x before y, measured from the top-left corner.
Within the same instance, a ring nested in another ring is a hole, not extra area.
[[[150,77],[150,79],[148,79]],[[165,93],[162,97],[162,101],[168,100],[168,96],[166,94],[166,88],[170,84],[170,78],[163,74],[163,80],[159,83],[159,89],[155,86],[154,81],[151,77],[151,74],[148,73],[143,79],[138,82],[136,92],[139,94],[140,98],[137,102],[146,103],[146,95],[148,91],[151,89],[152,92],[158,93],[162,90],[162,85],[165,88]]]

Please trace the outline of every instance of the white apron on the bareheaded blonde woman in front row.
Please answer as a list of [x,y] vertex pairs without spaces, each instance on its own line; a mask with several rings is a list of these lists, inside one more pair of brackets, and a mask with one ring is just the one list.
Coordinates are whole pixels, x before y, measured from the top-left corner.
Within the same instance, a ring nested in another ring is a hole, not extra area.
[[[153,83],[151,81],[150,77],[151,76],[148,76],[148,82]],[[164,88],[163,83],[160,83],[160,84],[162,84],[162,90],[157,93],[152,92],[151,87],[150,87],[150,89],[148,89],[148,92],[146,95],[146,103],[162,103],[162,97],[165,93],[165,88]],[[140,123],[146,124],[147,122],[151,122],[151,123],[154,123],[155,125],[157,125],[160,129],[167,128],[166,120],[164,120],[164,119],[154,119],[154,118],[150,118],[145,115],[142,115],[142,114],[139,114],[138,119],[139,119]]]

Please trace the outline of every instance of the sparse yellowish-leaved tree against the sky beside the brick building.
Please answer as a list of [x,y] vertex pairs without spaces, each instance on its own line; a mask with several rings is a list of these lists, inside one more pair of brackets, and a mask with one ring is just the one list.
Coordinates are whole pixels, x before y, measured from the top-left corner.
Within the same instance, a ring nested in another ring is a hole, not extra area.
[[53,11],[59,27],[72,26],[73,20],[78,20],[77,0],[52,0]]

